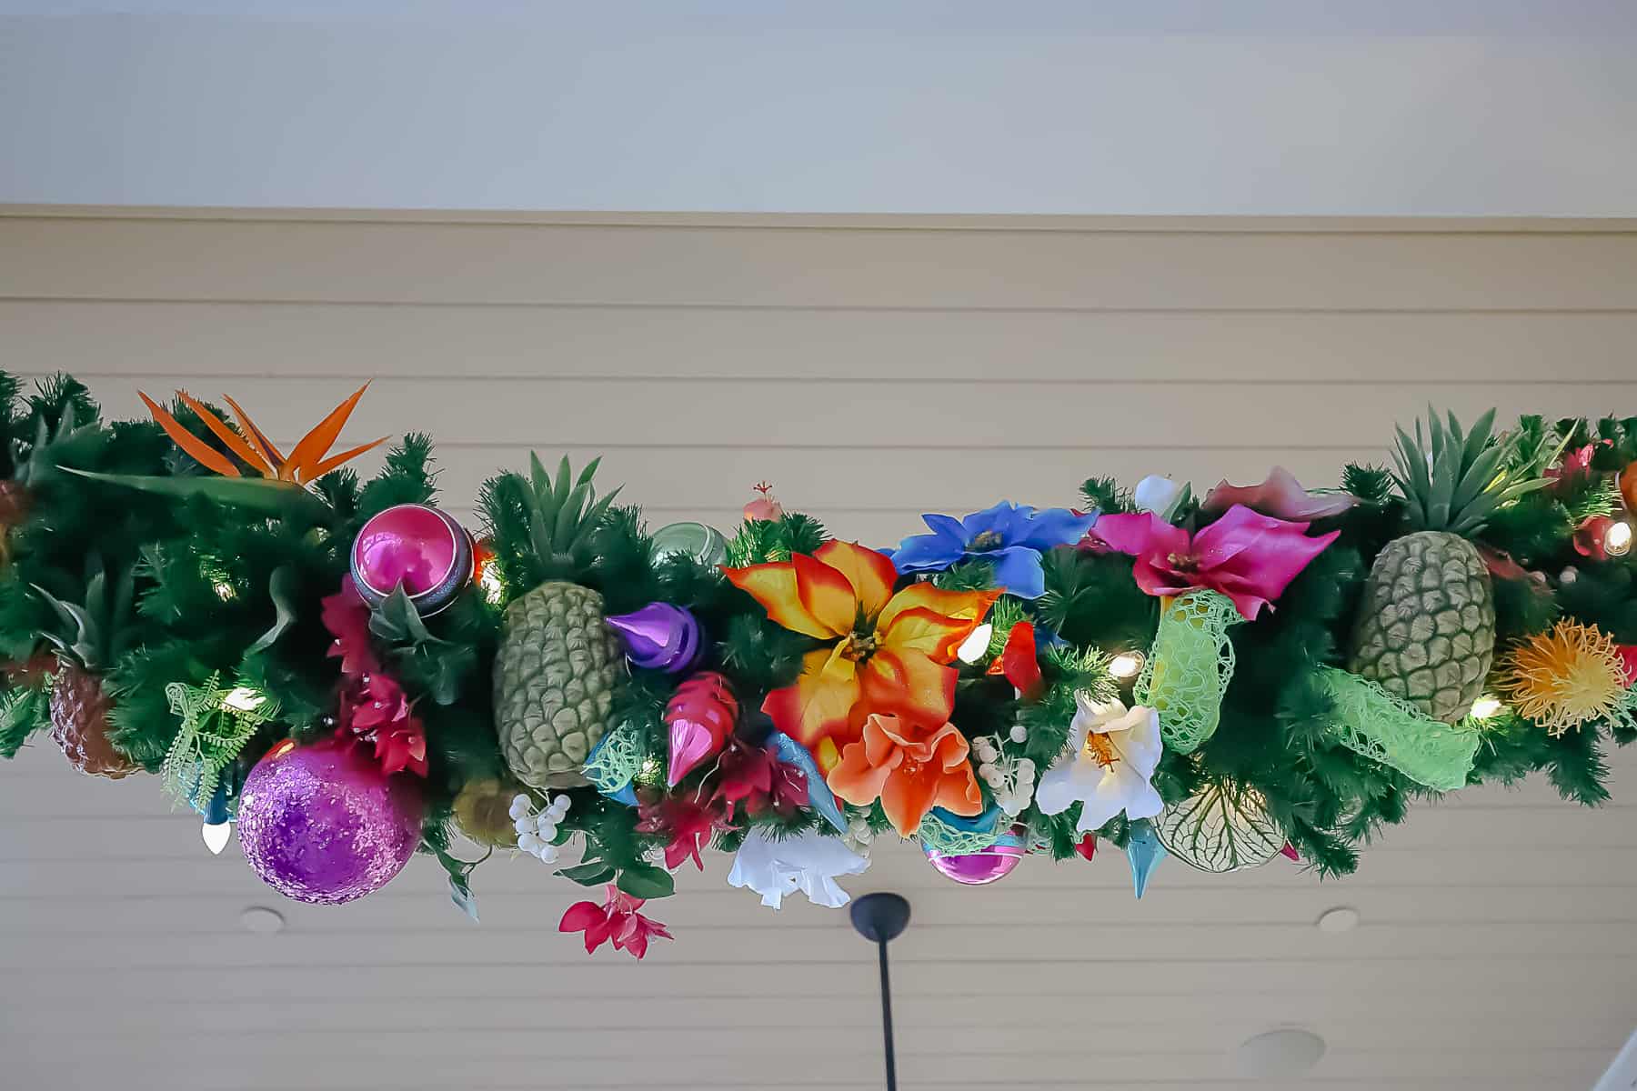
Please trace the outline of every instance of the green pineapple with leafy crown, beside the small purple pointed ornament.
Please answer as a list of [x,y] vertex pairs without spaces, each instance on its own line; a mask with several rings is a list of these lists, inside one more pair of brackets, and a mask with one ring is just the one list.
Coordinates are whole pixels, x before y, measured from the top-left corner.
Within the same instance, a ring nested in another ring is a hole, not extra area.
[[535,790],[588,783],[579,767],[612,726],[614,685],[625,658],[602,595],[584,579],[593,533],[619,489],[596,497],[593,460],[576,479],[565,458],[552,478],[532,458],[529,479],[506,474],[491,505],[521,505],[527,548],[548,579],[506,608],[494,656],[494,730],[512,775]]

